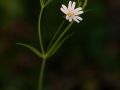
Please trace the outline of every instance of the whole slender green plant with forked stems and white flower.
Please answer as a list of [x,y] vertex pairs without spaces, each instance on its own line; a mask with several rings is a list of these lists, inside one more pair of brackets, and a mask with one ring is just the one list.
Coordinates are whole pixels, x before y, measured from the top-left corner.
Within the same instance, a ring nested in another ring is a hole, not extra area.
[[[34,52],[38,57],[42,59],[40,76],[38,80],[38,90],[43,90],[43,77],[44,77],[45,63],[47,58],[53,56],[56,53],[56,51],[61,47],[61,45],[72,35],[72,34],[69,34],[65,36],[65,34],[67,33],[67,31],[70,29],[70,27],[73,25],[74,22],[80,23],[80,21],[83,20],[80,17],[80,15],[84,13],[84,9],[87,6],[87,0],[82,0],[82,1],[76,0],[76,2],[69,1],[68,7],[62,4],[62,7],[60,8],[60,10],[66,15],[66,20],[68,20],[70,24],[63,30],[62,33],[60,33],[60,30],[62,29],[65,23],[65,20],[62,21],[62,23],[58,27],[58,30],[53,35],[53,38],[51,39],[47,50],[45,51],[43,41],[42,41],[43,40],[42,34],[41,34],[41,19],[42,19],[44,8],[48,4],[50,4],[52,1],[53,0],[40,0],[41,9],[40,9],[40,14],[38,19],[38,36],[39,36],[39,44],[40,44],[41,51],[28,44],[16,43],[17,45],[21,45],[30,49],[32,52]],[[77,5],[77,8],[75,8],[76,5]]]

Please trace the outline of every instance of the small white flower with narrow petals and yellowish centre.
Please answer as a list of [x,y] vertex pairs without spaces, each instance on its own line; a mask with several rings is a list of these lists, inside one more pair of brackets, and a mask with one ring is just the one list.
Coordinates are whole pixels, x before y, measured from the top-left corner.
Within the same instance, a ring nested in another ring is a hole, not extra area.
[[60,10],[66,14],[66,19],[69,20],[69,22],[76,21],[80,23],[83,19],[79,15],[83,13],[83,10],[81,7],[75,8],[75,5],[75,2],[72,3],[72,1],[69,1],[68,7],[62,4]]

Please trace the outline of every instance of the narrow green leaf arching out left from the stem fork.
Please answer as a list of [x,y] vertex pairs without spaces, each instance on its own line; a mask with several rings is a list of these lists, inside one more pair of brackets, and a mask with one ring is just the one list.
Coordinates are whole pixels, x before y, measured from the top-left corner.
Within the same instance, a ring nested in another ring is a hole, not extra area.
[[43,55],[41,54],[41,52],[40,51],[38,51],[36,48],[34,48],[33,46],[30,46],[30,45],[28,45],[28,44],[23,44],[23,43],[16,43],[17,45],[20,45],[20,46],[24,46],[24,47],[26,47],[26,48],[28,48],[28,49],[30,49],[32,52],[34,52],[37,56],[39,56],[39,57],[43,57]]

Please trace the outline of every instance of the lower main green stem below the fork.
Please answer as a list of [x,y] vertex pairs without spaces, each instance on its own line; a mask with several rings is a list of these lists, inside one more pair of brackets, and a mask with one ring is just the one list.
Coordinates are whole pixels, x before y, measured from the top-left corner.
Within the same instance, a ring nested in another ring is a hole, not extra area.
[[42,64],[41,64],[41,69],[40,69],[38,90],[43,90],[43,78],[44,78],[45,63],[46,63],[46,58],[43,58]]

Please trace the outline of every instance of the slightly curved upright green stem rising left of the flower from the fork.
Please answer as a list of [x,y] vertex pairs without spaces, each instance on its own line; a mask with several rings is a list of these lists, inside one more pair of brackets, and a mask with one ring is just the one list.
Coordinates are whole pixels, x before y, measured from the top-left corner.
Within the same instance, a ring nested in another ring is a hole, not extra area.
[[39,15],[38,34],[39,34],[39,42],[40,42],[41,51],[42,51],[42,54],[44,55],[45,52],[44,52],[43,42],[42,42],[42,36],[41,36],[41,17],[42,17],[42,12],[43,12],[43,8],[41,8],[40,15]]

